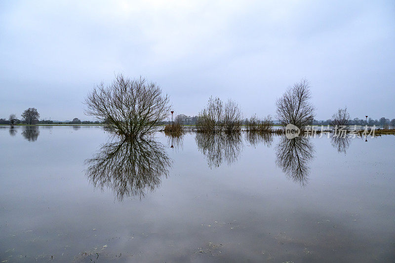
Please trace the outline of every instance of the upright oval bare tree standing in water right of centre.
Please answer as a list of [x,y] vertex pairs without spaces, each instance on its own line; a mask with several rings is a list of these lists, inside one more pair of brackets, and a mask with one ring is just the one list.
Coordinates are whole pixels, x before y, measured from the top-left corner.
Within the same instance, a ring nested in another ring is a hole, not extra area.
[[276,101],[278,121],[284,126],[293,124],[300,129],[310,125],[316,110],[310,99],[310,83],[307,79],[302,79],[289,87]]

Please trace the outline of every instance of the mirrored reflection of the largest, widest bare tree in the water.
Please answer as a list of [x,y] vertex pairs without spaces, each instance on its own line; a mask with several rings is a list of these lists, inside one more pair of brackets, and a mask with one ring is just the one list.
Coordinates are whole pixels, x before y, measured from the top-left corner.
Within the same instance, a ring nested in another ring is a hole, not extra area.
[[153,140],[107,143],[94,158],[85,160],[86,175],[96,188],[111,188],[118,200],[155,190],[168,175],[171,159],[164,146]]

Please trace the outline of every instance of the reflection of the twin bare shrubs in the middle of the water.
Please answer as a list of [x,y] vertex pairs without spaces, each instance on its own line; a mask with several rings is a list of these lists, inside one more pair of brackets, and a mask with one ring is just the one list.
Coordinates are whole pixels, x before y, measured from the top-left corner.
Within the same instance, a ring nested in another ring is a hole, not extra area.
[[237,161],[243,144],[240,133],[197,133],[197,148],[207,159],[208,166],[219,167],[223,160],[228,164]]

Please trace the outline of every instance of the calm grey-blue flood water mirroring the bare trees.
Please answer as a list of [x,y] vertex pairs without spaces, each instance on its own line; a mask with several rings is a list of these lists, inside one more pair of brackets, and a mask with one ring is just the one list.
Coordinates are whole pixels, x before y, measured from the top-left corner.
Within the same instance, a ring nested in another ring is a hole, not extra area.
[[395,136],[0,126],[0,145],[0,262],[395,261]]

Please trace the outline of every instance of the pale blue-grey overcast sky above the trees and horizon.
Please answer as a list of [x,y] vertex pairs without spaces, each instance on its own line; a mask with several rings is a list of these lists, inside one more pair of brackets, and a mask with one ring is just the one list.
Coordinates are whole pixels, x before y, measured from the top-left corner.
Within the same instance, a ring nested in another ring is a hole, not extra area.
[[311,81],[316,119],[395,118],[395,1],[0,1],[0,117],[83,114],[115,73],[160,84],[176,113],[210,95],[245,117]]

